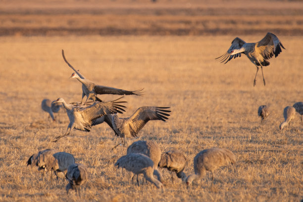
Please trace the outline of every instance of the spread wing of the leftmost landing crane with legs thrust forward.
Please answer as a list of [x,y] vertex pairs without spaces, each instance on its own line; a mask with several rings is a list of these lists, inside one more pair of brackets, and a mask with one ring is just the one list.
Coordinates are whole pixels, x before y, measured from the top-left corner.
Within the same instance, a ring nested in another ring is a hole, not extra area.
[[86,108],[80,108],[79,112],[81,113],[83,121],[92,123],[95,119],[98,119],[105,114],[123,113],[122,111],[125,111],[123,108],[126,106],[121,104],[126,103],[127,101],[118,101],[121,98],[114,101],[95,102]]

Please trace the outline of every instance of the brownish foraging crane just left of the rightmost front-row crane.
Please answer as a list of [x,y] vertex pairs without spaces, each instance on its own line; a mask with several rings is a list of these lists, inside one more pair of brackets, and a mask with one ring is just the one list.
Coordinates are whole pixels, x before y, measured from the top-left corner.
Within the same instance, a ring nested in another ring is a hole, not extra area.
[[186,165],[186,157],[178,151],[169,151],[161,154],[161,159],[158,163],[159,167],[167,168],[171,171],[171,180],[173,182],[173,172],[178,178],[185,182],[186,174],[183,172]]

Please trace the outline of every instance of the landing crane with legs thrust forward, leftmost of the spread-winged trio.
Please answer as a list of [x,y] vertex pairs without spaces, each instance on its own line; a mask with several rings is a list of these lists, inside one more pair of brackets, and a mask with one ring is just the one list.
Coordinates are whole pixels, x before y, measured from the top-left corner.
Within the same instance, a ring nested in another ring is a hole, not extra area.
[[69,135],[73,128],[80,131],[90,132],[93,126],[93,121],[102,117],[103,115],[109,113],[123,113],[122,111],[125,110],[122,107],[125,106],[121,105],[121,103],[125,103],[126,101],[118,101],[121,98],[107,102],[97,101],[84,108],[78,108],[73,104],[67,104],[63,98],[58,98],[55,102],[62,102],[69,118],[69,124],[65,134],[55,137],[56,140],[52,142],[57,142],[60,138]]

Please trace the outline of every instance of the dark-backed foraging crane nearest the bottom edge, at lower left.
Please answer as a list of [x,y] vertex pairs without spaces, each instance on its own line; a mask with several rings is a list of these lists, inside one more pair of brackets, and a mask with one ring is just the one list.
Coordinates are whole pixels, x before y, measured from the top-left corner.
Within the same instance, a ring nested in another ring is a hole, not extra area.
[[84,185],[88,180],[88,170],[86,165],[82,163],[71,164],[68,167],[65,178],[69,182],[65,189],[68,194],[69,190],[75,190],[80,197],[80,186]]

